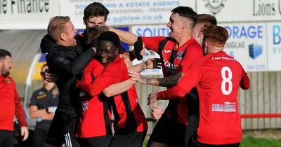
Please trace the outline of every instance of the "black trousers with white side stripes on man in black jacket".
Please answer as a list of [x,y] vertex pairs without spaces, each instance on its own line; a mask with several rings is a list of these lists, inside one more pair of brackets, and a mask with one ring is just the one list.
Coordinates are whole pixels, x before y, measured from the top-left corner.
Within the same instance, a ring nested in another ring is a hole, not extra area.
[[47,144],[61,146],[65,144],[67,147],[79,146],[75,138],[77,129],[77,113],[72,111],[55,111],[51,126],[48,130]]

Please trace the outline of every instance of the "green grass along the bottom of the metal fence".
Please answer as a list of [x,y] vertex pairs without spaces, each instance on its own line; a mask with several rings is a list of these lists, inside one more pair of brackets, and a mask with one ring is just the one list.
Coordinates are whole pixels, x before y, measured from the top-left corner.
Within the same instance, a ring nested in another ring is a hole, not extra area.
[[[143,142],[143,147],[148,143],[148,137]],[[281,147],[281,139],[260,139],[254,137],[244,137],[240,147]]]

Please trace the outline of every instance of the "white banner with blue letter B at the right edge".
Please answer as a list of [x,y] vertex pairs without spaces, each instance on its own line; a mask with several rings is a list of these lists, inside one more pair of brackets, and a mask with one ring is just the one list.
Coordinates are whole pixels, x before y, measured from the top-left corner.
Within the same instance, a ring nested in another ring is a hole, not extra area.
[[281,71],[281,22],[268,23],[268,71]]

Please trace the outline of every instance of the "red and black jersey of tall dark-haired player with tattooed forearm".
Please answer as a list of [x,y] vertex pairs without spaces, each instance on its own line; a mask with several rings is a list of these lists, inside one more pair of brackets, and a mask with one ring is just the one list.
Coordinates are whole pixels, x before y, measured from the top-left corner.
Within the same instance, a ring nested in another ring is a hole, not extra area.
[[[203,57],[202,48],[194,38],[190,38],[179,48],[177,48],[176,42],[171,38],[156,36],[142,37],[142,39],[143,43],[145,43],[145,48],[160,54],[160,57],[163,60],[162,71],[164,77],[178,72],[185,73],[192,62]],[[159,52],[159,43],[164,39],[167,39],[167,42],[164,45],[163,50]],[[169,118],[176,117],[176,122],[187,125],[188,105],[186,103],[186,99],[175,99],[172,102],[170,101],[165,111],[166,115]],[[176,113],[176,116],[173,116],[175,115],[174,113]]]

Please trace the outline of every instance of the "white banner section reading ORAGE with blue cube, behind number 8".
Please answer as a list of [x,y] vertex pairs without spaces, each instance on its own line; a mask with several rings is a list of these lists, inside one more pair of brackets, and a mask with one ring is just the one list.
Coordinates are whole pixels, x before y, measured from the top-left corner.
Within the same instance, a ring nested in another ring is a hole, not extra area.
[[228,30],[224,50],[242,64],[246,71],[266,71],[266,23],[220,24]]

